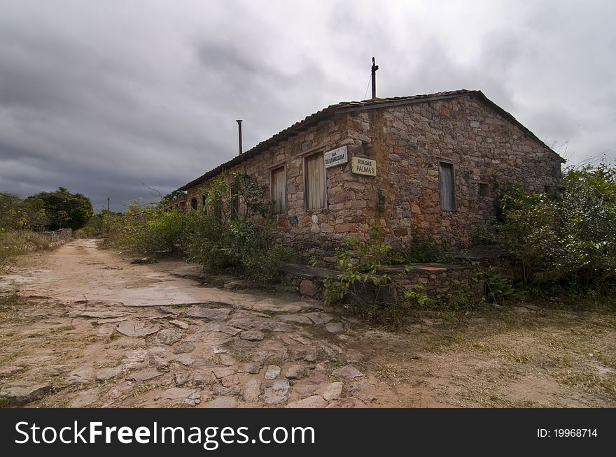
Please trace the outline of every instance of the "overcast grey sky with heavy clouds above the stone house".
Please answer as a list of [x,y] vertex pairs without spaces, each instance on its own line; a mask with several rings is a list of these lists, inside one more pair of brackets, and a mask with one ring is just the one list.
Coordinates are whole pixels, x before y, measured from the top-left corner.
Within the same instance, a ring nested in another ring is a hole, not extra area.
[[[0,191],[122,210],[316,110],[479,89],[573,163],[616,157],[614,1],[0,0]],[[370,94],[368,93],[368,96]]]

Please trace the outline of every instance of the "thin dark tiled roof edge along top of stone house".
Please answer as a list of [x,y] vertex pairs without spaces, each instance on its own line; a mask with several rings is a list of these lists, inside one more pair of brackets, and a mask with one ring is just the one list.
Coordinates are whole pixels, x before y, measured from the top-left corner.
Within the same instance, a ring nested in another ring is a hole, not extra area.
[[[219,165],[216,168],[208,171],[204,175],[197,177],[197,179],[188,182],[188,184],[184,184],[178,190],[186,191],[190,189],[191,187],[195,187],[198,184],[201,184],[202,182],[209,180],[210,177],[214,177],[222,173],[223,171],[232,168],[233,166],[241,164],[242,162],[248,159],[251,159],[252,157],[257,156],[261,152],[265,152],[270,147],[276,145],[277,143],[283,140],[286,140],[290,136],[295,135],[296,133],[302,130],[308,129],[309,127],[313,126],[314,124],[317,124],[318,122],[321,122],[325,119],[328,119],[338,114],[351,113],[353,111],[364,111],[364,110],[370,110],[374,108],[386,108],[388,106],[409,105],[412,103],[425,103],[427,101],[454,99],[454,98],[458,98],[461,96],[471,96],[471,97],[479,99],[479,101],[482,101],[483,103],[485,103],[487,106],[495,110],[498,114],[505,117],[505,119],[508,119],[513,124],[516,124],[528,136],[531,136],[533,140],[544,145],[545,147],[548,147],[539,138],[537,138],[533,132],[528,130],[515,117],[513,117],[513,115],[511,115],[510,113],[507,113],[507,111],[503,110],[503,108],[500,108],[500,106],[496,105],[496,103],[488,99],[483,94],[483,92],[479,90],[461,89],[461,90],[455,90],[455,91],[449,91],[449,92],[436,92],[435,94],[423,94],[423,95],[413,95],[413,96],[405,96],[405,97],[391,97],[387,99],[377,98],[377,99],[370,99],[370,100],[363,100],[363,101],[341,101],[340,103],[336,103],[335,105],[330,105],[327,108],[323,108],[322,110],[319,110],[316,113],[313,113],[305,117],[303,120],[299,122],[295,122],[295,124],[293,124],[292,126],[287,127],[286,129],[282,131],[279,131],[279,133],[276,133],[274,136],[267,138],[267,140],[263,140],[261,143],[258,143],[258,145],[251,148],[250,150],[237,155],[230,161],[227,161],[224,164]],[[554,152],[554,154],[556,153]]]

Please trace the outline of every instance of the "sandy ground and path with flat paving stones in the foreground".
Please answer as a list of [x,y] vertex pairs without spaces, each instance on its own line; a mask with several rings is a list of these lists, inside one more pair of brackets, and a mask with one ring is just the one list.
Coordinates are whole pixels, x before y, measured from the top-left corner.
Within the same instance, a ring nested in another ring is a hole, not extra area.
[[613,314],[416,313],[393,331],[293,293],[203,286],[194,268],[76,240],[2,273],[0,405],[616,406]]

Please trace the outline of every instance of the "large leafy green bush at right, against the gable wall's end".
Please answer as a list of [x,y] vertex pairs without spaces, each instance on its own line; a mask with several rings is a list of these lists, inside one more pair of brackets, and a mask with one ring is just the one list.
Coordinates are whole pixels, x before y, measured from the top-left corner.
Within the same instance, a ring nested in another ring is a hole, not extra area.
[[559,194],[506,187],[497,198],[500,245],[525,285],[566,284],[607,292],[616,283],[616,170],[570,168]]

